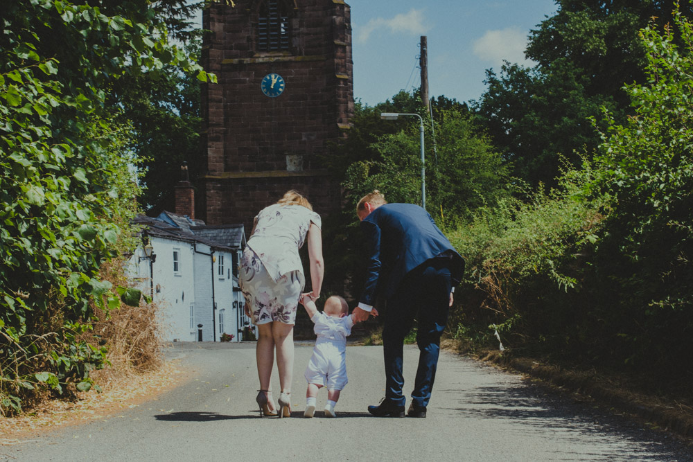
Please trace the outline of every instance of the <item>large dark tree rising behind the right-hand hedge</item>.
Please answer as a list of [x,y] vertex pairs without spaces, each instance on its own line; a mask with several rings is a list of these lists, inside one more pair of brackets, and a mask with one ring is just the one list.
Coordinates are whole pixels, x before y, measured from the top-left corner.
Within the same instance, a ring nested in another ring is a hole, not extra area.
[[[559,157],[579,166],[574,151],[594,152],[599,136],[587,120],[602,107],[624,121],[623,87],[645,78],[638,30],[651,20],[666,24],[674,8],[651,0],[556,3],[556,14],[529,35],[526,55],[536,66],[507,63],[500,73],[489,71],[489,88],[473,105],[514,175],[535,186],[556,184]],[[690,12],[690,6],[682,10]]]

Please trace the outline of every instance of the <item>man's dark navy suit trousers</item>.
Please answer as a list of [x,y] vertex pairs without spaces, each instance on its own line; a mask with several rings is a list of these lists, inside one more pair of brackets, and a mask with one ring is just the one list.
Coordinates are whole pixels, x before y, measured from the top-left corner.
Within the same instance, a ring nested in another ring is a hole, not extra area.
[[417,321],[416,344],[419,346],[419,368],[416,371],[412,400],[428,406],[440,352],[440,336],[450,310],[450,269],[446,258],[432,258],[403,278],[398,290],[387,299],[383,326],[385,355],[385,398],[395,405],[405,405],[402,393],[404,377],[404,338]]

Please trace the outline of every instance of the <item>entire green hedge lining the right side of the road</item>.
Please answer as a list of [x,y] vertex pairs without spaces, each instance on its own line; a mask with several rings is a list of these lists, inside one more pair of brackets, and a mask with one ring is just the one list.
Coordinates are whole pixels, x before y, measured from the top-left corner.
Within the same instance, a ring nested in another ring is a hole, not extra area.
[[593,167],[453,235],[472,270],[453,329],[487,341],[498,329],[505,346],[690,390],[693,25],[677,9],[663,33],[641,37],[647,84],[626,85],[626,123],[605,112]]

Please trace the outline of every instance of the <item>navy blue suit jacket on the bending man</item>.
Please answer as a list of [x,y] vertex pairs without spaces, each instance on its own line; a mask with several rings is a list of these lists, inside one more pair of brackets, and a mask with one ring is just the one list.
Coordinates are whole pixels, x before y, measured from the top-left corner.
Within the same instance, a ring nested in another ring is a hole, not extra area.
[[374,305],[378,293],[389,298],[408,272],[438,256],[450,260],[453,285],[462,280],[464,259],[418,205],[383,204],[362,220],[361,229],[368,266],[360,302]]

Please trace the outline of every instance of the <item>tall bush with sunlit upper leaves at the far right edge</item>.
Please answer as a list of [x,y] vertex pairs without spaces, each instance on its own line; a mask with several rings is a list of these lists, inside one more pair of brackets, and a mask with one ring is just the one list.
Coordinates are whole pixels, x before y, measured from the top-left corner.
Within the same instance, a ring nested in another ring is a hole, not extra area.
[[620,125],[606,114],[599,147],[593,191],[613,211],[596,263],[609,286],[606,319],[622,318],[608,332],[619,357],[669,373],[692,346],[693,24],[677,6],[672,26],[641,38],[647,85],[626,86],[635,116]]

